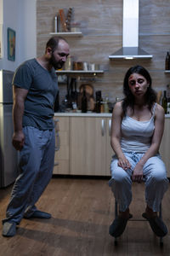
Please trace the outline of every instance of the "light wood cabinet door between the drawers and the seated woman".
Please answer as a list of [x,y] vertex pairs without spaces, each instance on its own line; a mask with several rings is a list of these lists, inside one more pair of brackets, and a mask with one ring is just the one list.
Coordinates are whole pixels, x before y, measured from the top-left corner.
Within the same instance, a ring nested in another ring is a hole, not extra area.
[[107,118],[71,117],[70,173],[110,175],[111,146]]

